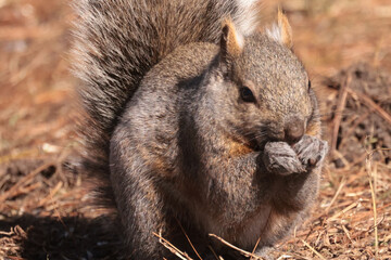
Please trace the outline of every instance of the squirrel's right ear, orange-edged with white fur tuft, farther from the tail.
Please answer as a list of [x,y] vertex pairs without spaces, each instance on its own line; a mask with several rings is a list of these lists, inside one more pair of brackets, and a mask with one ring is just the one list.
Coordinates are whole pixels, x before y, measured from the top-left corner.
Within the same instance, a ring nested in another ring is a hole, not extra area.
[[272,28],[266,30],[266,35],[291,49],[293,47],[292,28],[287,15],[285,15],[280,9],[278,9],[277,22],[277,25],[274,24]]

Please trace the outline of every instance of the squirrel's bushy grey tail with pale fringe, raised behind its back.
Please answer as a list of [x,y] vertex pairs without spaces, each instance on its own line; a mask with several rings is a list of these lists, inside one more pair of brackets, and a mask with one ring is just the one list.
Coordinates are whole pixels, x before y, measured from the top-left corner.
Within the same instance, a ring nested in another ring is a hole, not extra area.
[[[85,117],[84,170],[100,180],[104,206],[115,207],[109,143],[127,101],[152,66],[178,46],[217,43],[230,16],[242,35],[256,27],[256,0],[78,0],[74,72]],[[153,104],[151,104],[153,105]]]

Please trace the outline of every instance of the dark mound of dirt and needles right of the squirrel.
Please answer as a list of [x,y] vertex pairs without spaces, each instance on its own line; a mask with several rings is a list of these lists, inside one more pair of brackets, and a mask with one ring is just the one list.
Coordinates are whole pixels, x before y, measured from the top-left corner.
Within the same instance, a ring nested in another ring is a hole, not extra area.
[[[381,68],[358,63],[325,80],[333,92],[327,100],[326,123],[338,168],[362,164],[368,153],[391,160],[391,77]],[[337,96],[335,96],[337,94]],[[336,127],[339,125],[339,127]],[[338,131],[338,132],[337,132]]]

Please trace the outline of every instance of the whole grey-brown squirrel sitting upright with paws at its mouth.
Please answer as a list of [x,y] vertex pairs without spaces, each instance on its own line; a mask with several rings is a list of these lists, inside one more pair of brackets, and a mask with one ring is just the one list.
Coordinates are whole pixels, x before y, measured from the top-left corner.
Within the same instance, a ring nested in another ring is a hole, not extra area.
[[308,214],[328,145],[288,18],[262,30],[261,3],[75,3],[83,166],[125,258],[172,258],[153,233],[191,256],[186,233],[203,259],[239,259],[210,234],[267,258]]

